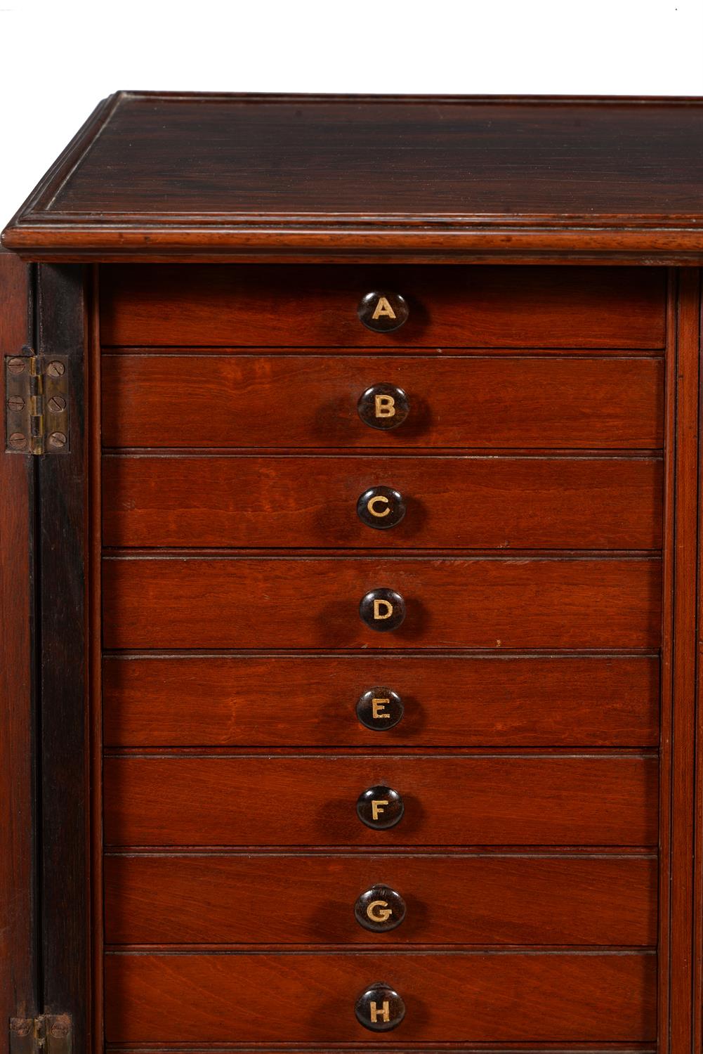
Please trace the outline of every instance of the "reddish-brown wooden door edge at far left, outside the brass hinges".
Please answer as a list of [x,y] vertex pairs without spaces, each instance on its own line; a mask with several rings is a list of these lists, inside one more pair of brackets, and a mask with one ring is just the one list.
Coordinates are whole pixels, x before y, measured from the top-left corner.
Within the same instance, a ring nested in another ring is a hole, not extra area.
[[[32,269],[0,252],[2,358],[32,343]],[[0,367],[4,408],[1,359]],[[7,1019],[38,1007],[33,532],[33,458],[0,451],[0,1054],[7,1054]]]

